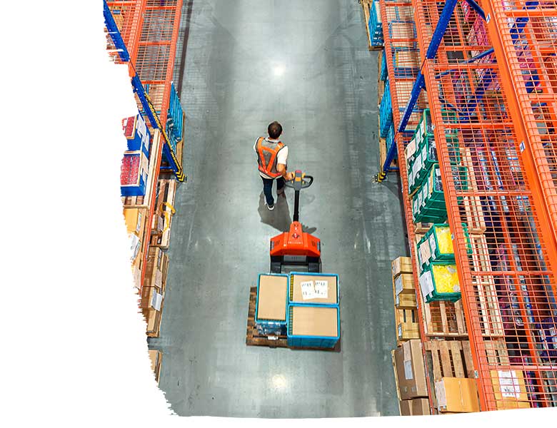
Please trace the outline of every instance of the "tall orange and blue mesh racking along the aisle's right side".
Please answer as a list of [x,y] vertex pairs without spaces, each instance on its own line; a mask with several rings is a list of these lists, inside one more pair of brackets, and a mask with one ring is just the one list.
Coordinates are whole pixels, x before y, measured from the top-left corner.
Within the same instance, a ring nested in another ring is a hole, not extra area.
[[[431,309],[419,287],[421,234],[405,148],[426,89],[475,367],[466,377],[476,378],[481,410],[501,408],[493,373],[511,371],[527,391],[516,397],[518,407],[554,407],[557,4],[486,0],[485,12],[472,0],[381,0],[380,6],[391,87],[401,80],[393,63],[401,40],[390,29],[402,9],[411,11],[406,17],[416,28],[416,39],[406,43],[417,41],[420,55],[411,91],[391,91],[396,146],[378,174],[380,181],[386,177],[398,152],[418,306]],[[428,332],[431,317],[418,323],[425,357],[441,335]]]

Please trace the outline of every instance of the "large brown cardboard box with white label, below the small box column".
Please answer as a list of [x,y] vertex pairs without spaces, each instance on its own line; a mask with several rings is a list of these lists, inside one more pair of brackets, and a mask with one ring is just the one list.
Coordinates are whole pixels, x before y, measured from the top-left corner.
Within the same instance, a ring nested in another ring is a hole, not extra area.
[[428,396],[421,346],[420,340],[408,340],[394,352],[398,389],[403,400]]

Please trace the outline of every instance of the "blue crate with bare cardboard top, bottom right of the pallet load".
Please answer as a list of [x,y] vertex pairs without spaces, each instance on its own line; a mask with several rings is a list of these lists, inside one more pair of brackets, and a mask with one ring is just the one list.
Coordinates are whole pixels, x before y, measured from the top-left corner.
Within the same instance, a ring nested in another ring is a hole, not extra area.
[[[304,334],[294,335],[294,326],[296,324],[296,315],[298,312],[308,312],[307,317],[312,317],[317,312],[321,312],[323,320],[327,320],[328,325],[321,324],[320,327],[313,326],[313,328],[305,328]],[[323,313],[325,312],[325,313]],[[288,320],[287,320],[287,343],[289,347],[317,347],[317,348],[332,348],[335,347],[338,340],[341,338],[341,315],[338,306],[328,305],[288,305]],[[333,327],[336,323],[336,329]],[[333,328],[331,328],[333,327]],[[318,334],[318,328],[323,330],[333,331],[336,330],[334,335]],[[313,332],[315,333],[312,333]]]

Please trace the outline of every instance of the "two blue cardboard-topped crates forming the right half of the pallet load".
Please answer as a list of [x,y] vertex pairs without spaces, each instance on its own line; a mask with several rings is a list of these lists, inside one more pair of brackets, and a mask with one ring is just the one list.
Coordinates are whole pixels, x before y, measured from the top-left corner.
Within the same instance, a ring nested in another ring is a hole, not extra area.
[[[326,297],[304,293],[317,281],[326,282]],[[302,285],[310,287],[304,289]],[[319,334],[306,330],[294,334],[297,317],[308,320],[319,314],[326,323],[319,326],[329,334]],[[341,337],[338,275],[331,273],[291,272],[288,281],[287,340],[289,347],[332,348]],[[333,332],[334,331],[334,332]]]

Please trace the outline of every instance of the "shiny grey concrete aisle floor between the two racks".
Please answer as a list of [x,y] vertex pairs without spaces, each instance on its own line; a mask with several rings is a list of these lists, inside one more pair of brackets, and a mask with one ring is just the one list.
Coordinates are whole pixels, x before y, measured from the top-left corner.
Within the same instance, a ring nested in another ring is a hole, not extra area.
[[[181,101],[185,170],[169,250],[160,387],[177,414],[396,415],[390,263],[406,254],[396,175],[378,171],[377,54],[356,0],[191,0]],[[341,278],[342,351],[247,347],[249,287],[269,270],[293,193],[263,205],[252,146],[283,124],[314,175],[301,221]]]

